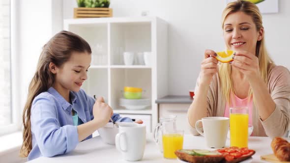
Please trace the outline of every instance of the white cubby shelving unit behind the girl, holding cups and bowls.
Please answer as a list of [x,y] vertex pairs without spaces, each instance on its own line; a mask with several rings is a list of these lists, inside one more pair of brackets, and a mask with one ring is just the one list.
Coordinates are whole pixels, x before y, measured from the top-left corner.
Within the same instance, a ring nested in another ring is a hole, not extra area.
[[[103,96],[114,112],[158,122],[155,100],[168,94],[167,23],[157,17],[86,18],[64,20],[64,30],[82,36],[92,49],[92,62],[83,89]],[[124,65],[123,52],[151,52],[151,64]],[[143,110],[119,106],[124,86],[141,87],[142,98],[151,99]]]

